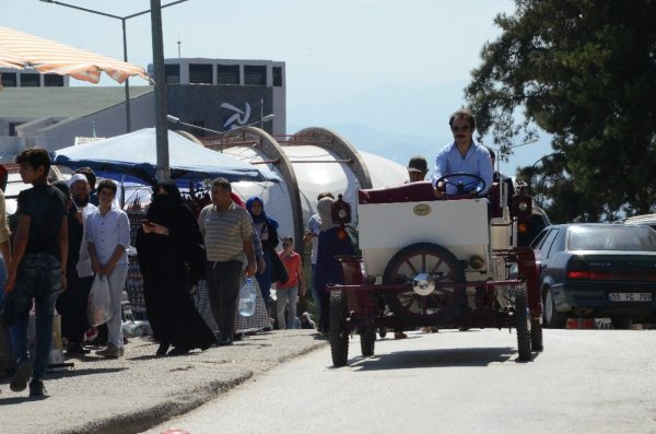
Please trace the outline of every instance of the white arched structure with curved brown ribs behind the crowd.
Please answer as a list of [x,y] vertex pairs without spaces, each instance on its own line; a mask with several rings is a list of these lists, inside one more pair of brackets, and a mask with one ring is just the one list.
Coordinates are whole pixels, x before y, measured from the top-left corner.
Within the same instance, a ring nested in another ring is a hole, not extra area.
[[[293,136],[277,139],[260,128],[245,127],[226,132],[220,139],[201,140],[206,145],[242,161],[274,166],[283,180],[276,188],[284,190],[284,209],[277,201],[281,199],[279,193],[274,195],[277,199],[271,202],[272,190],[262,195],[262,198],[268,203],[268,212],[279,219],[281,227],[285,226],[282,233],[294,237],[298,253],[305,251],[305,224],[309,215],[316,212],[317,193],[326,190],[343,193],[355,207],[358,188],[401,185],[407,179],[405,167],[378,155],[361,153],[343,137],[325,128],[306,128]],[[371,172],[367,163],[373,164]],[[335,166],[339,166],[339,171]],[[286,184],[286,188],[283,184]],[[256,183],[251,186],[239,185],[237,189],[242,195],[259,196],[257,190],[266,187]]]

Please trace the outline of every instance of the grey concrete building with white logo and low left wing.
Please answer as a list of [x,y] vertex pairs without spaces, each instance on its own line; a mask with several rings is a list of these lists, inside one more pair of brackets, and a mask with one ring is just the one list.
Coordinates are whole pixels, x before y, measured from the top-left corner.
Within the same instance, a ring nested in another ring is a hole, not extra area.
[[[260,127],[285,134],[284,62],[165,59],[165,69],[169,115],[226,131],[273,114]],[[34,70],[1,69],[0,73],[0,162],[11,161],[27,146],[54,151],[73,145],[75,137],[127,132],[122,86],[70,87],[67,77]],[[152,86],[130,86],[133,131],[154,126],[154,101]]]

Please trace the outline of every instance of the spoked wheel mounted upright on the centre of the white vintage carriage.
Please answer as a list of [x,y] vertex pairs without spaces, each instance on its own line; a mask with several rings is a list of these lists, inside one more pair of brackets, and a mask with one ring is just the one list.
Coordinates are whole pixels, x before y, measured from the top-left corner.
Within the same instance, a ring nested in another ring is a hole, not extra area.
[[387,305],[397,316],[413,326],[425,326],[448,321],[466,307],[464,289],[435,286],[427,295],[418,294],[412,283],[419,274],[427,275],[431,283],[465,282],[462,266],[446,248],[432,243],[403,247],[389,259],[383,273],[384,284],[408,284],[405,292],[385,294]]

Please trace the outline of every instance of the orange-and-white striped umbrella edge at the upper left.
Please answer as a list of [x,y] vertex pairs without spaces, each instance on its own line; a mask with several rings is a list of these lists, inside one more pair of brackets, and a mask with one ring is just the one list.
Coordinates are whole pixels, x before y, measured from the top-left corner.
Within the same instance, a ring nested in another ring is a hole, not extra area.
[[122,83],[132,75],[150,80],[143,68],[0,26],[0,67],[34,67],[42,73],[70,75],[97,83],[101,72]]

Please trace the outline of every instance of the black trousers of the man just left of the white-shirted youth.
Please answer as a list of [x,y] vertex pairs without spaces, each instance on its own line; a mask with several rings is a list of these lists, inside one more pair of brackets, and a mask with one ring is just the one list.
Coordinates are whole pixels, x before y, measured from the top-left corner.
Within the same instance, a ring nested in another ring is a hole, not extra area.
[[57,298],[57,312],[61,315],[61,336],[70,343],[84,342],[90,325],[86,319],[89,291],[94,277],[79,278],[77,272],[67,275],[68,288]]

